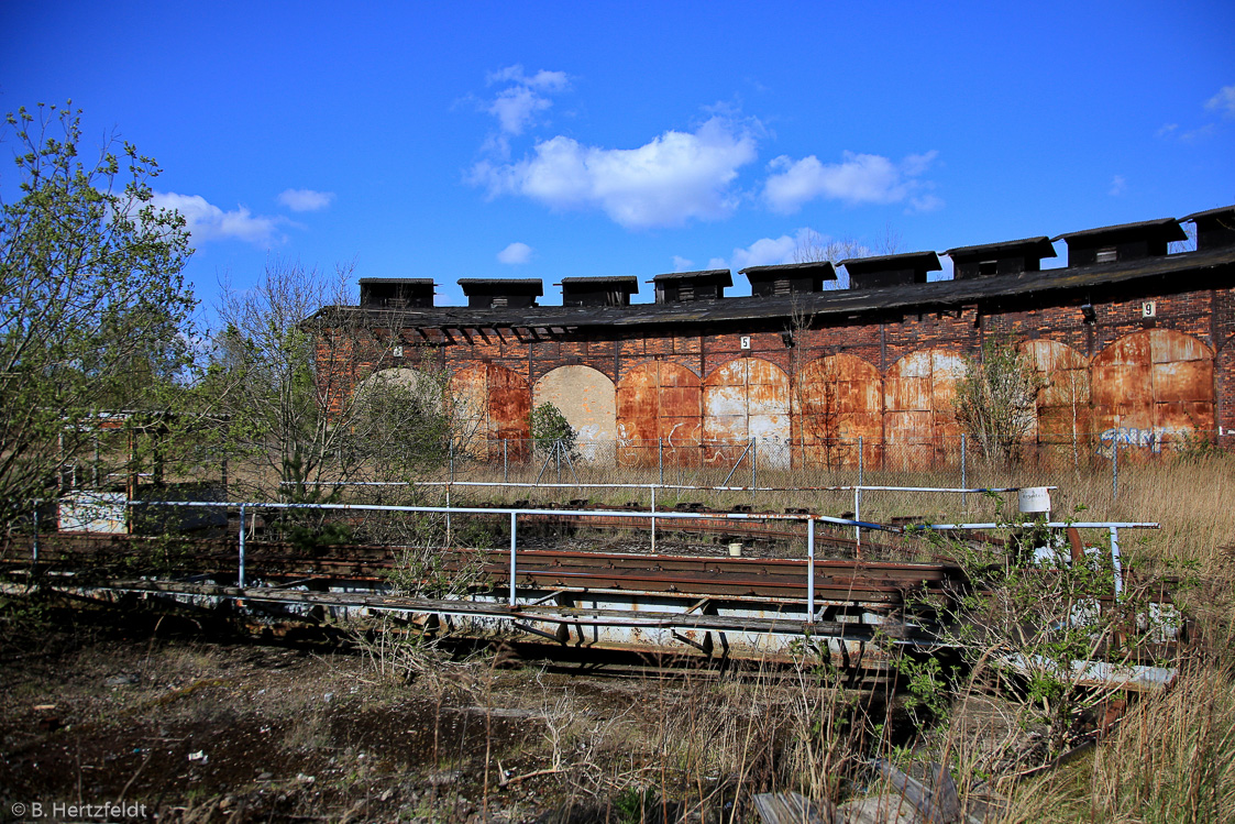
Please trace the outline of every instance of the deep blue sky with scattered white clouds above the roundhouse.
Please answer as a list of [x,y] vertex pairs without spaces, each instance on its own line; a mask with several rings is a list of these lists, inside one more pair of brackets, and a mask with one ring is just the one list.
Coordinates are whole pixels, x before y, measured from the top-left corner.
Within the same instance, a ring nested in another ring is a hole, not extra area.
[[438,304],[725,266],[741,294],[804,230],[942,251],[1235,203],[1233,32],[1229,1],[6,0],[0,109],[72,99],[158,158],[206,301],[275,258]]

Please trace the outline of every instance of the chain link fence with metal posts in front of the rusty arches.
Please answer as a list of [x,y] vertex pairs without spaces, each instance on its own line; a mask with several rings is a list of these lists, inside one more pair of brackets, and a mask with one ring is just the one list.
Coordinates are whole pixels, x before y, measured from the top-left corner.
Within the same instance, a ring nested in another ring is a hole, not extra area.
[[1015,504],[1014,494],[965,490],[1013,487],[1057,486],[1067,490],[1060,495],[1062,507],[1084,504],[1109,513],[1121,484],[1135,482],[1141,469],[1219,453],[1216,439],[1203,432],[1163,440],[1124,430],[1039,436],[1021,444],[1010,460],[986,455],[966,435],[687,444],[592,439],[573,446],[508,439],[456,447],[448,477],[536,484],[545,487],[542,498],[566,497],[558,484],[657,486],[671,488],[659,499],[666,505],[705,499],[709,505],[740,503],[763,510],[810,507],[887,523],[998,516]]

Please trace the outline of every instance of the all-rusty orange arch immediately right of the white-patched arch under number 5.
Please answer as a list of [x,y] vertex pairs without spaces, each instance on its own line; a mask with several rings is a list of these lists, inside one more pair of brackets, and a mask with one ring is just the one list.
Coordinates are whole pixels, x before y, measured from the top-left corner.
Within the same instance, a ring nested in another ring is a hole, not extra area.
[[883,378],[873,363],[830,355],[803,366],[793,387],[794,458],[802,466],[878,465],[883,444]]

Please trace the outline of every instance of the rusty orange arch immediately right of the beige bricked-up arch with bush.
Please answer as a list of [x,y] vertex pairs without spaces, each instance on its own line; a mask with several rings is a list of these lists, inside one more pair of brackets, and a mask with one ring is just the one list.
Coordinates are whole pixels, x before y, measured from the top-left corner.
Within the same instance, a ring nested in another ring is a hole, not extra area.
[[645,361],[618,382],[618,457],[624,466],[664,460],[698,463],[703,429],[699,376],[668,361]]

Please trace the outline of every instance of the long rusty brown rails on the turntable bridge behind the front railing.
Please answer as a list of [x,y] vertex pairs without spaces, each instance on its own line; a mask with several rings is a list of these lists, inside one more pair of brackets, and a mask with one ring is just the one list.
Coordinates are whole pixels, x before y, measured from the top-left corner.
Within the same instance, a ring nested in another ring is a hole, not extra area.
[[[443,550],[429,553],[384,546],[330,546],[316,551],[289,544],[248,541],[246,573],[252,581],[274,583],[316,581],[322,586],[384,582],[406,570],[408,553],[432,563],[433,574],[468,574],[477,589],[510,584],[510,553],[499,550]],[[430,558],[431,556],[431,558]],[[28,566],[31,547],[16,542],[0,558],[5,566]],[[210,576],[235,578],[235,539],[203,539],[169,544],[163,539],[109,535],[43,539],[40,566],[44,572],[88,576],[116,570],[146,571],[162,577]],[[687,557],[650,553],[520,550],[515,553],[515,584],[546,591],[613,591],[674,595],[768,599],[777,603],[806,598],[805,558]],[[906,599],[948,597],[961,592],[965,576],[945,563],[816,560],[815,597],[878,608]],[[404,577],[405,583],[416,583]]]

